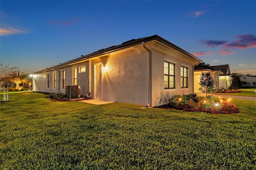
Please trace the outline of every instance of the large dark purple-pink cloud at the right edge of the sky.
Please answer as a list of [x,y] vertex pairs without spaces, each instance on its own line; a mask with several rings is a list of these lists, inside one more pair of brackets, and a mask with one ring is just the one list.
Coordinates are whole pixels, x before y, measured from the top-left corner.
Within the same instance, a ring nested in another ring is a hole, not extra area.
[[[246,35],[241,35],[241,36],[235,36],[236,39],[239,39],[237,41],[218,41],[218,40],[199,40],[201,44],[206,45],[207,47],[223,47],[223,48],[228,48],[228,47],[233,47],[233,48],[242,48],[242,49],[247,49],[247,48],[252,48],[256,47],[256,37],[252,34],[246,34]],[[224,51],[223,51],[224,52]]]

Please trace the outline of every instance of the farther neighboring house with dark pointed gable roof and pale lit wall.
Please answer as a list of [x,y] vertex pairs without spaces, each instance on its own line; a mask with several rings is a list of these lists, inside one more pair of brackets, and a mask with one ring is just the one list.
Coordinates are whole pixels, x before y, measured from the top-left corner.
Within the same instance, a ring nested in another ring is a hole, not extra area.
[[229,69],[229,65],[214,65],[214,66],[210,66],[212,69],[216,69],[216,70],[220,70],[223,72],[223,74],[221,74],[219,76],[219,87],[220,89],[226,89],[228,90],[228,88],[230,87],[230,80],[231,80],[231,73],[230,73],[230,69]]

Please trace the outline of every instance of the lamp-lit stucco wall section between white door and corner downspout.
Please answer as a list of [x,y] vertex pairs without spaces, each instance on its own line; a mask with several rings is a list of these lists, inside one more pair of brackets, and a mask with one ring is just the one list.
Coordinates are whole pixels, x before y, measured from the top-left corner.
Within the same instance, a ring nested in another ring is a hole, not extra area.
[[102,63],[102,100],[147,104],[147,53],[131,49],[94,59],[92,66],[92,94],[94,94],[94,65]]

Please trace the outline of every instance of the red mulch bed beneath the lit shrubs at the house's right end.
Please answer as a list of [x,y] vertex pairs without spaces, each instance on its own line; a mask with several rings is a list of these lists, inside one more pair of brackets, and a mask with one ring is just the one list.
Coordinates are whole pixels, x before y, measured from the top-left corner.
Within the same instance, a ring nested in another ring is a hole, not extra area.
[[194,107],[186,104],[186,105],[180,105],[176,108],[172,107],[171,105],[162,105],[162,106],[155,106],[154,108],[160,108],[160,109],[174,109],[174,110],[182,110],[186,112],[206,112],[210,114],[234,114],[239,113],[239,109],[237,107],[223,107],[220,110],[214,110],[214,109],[204,109],[204,108],[198,108],[195,109]]

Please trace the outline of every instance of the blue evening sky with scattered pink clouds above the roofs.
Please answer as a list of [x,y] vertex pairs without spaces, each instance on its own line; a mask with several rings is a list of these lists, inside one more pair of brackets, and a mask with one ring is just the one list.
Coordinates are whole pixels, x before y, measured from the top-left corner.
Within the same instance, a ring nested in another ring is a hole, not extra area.
[[34,73],[157,34],[256,75],[256,1],[0,1],[0,63]]

